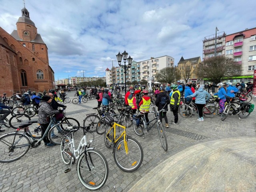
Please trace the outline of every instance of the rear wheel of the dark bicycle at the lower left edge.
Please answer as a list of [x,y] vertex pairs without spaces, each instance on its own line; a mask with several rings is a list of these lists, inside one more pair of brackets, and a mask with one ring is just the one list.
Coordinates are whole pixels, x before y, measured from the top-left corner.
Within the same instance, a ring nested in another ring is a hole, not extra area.
[[9,133],[0,137],[0,162],[12,162],[30,149],[30,139],[22,133]]

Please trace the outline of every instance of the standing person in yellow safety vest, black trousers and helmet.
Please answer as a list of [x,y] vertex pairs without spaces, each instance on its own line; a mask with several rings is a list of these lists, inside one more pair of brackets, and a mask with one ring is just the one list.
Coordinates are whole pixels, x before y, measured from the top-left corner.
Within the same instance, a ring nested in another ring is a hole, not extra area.
[[178,86],[177,85],[172,85],[171,89],[173,90],[172,96],[171,96],[171,107],[172,107],[172,112],[174,116],[174,120],[171,121],[172,124],[178,125],[178,108],[180,106],[180,92],[178,91]]

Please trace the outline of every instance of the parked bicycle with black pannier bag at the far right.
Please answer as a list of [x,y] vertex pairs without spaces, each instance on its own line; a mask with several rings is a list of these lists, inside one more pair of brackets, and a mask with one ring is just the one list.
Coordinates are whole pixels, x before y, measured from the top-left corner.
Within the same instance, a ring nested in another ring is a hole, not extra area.
[[[250,115],[250,112],[247,111],[247,105],[250,103],[244,103],[244,102],[233,102],[231,97],[226,96],[226,102],[225,102],[225,109],[220,115],[220,119],[224,121],[228,114],[230,115],[238,115],[239,120],[247,118]],[[229,113],[231,112],[231,113]]]

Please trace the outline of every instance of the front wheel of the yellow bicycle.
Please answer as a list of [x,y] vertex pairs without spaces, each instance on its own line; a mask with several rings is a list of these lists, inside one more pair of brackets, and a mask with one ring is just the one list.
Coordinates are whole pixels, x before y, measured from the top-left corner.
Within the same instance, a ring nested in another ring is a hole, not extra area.
[[134,138],[126,136],[126,141],[128,154],[125,151],[124,138],[121,138],[114,146],[114,160],[124,172],[133,172],[142,164],[143,150],[140,143]]

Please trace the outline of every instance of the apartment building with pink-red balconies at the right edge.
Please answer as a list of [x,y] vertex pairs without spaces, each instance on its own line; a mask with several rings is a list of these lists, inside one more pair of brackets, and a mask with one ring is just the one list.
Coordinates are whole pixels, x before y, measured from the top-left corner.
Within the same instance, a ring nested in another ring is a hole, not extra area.
[[253,81],[254,65],[256,65],[256,28],[246,29],[233,34],[220,32],[203,40],[203,60],[214,56],[216,39],[216,55],[234,59],[242,65],[242,74],[227,79],[230,82]]

